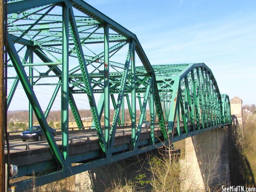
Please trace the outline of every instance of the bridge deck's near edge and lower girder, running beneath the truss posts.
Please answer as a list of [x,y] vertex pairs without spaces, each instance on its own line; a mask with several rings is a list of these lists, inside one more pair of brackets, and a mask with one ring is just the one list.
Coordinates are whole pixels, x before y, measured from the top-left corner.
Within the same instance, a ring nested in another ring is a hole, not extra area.
[[[207,129],[201,129],[198,131],[190,132],[189,134],[183,134],[180,136],[175,136],[173,138],[173,142],[176,142],[178,140],[185,139],[186,137],[191,137],[196,134],[200,134],[203,131],[208,131],[214,128],[223,127],[227,124],[221,124],[216,125],[213,127],[209,127]],[[191,130],[192,126],[189,126],[189,130]],[[156,128],[157,129],[157,128]],[[181,131],[183,130],[183,127],[180,127]],[[125,135],[123,135],[123,131],[125,131]],[[154,131],[155,137],[160,138],[162,136],[160,130]],[[156,139],[155,145],[150,145],[150,130],[143,129],[140,137],[140,141],[138,144],[138,150],[136,151],[130,151],[130,143],[131,143],[131,131],[129,131],[129,128],[119,130],[115,144],[114,144],[114,153],[108,161],[104,158],[104,155],[102,154],[102,151],[99,146],[98,139],[93,136],[93,133],[85,133],[85,134],[73,134],[78,137],[79,139],[74,140],[74,143],[69,144],[70,148],[70,157],[69,157],[69,163],[73,166],[72,173],[66,173],[68,176],[75,175],[79,172],[86,171],[99,166],[104,166],[108,163],[112,163],[117,160],[122,160],[146,151],[150,151],[155,148],[159,148],[163,146],[163,143]],[[81,141],[80,139],[82,137],[90,136],[90,140]],[[15,144],[14,144],[15,145]],[[42,147],[43,145],[43,147]],[[38,148],[32,149],[32,150],[23,150],[23,151],[17,151],[16,149],[13,149],[13,152],[10,154],[10,160],[12,164],[17,165],[19,168],[18,175],[19,176],[25,176],[25,175],[31,175],[32,170],[36,172],[45,172],[47,169],[48,171],[52,170],[52,168],[57,167],[56,161],[54,159],[54,156],[52,155],[50,148],[45,147],[48,144],[45,142],[43,144],[37,145]],[[12,146],[12,144],[11,144]],[[58,145],[58,147],[61,149],[61,145]],[[76,166],[76,163],[83,163],[79,166]],[[52,178],[51,180],[57,180],[64,177],[67,177],[67,175],[63,175],[62,171],[52,172],[50,174]],[[46,178],[45,178],[46,179]],[[48,178],[49,179],[49,178]],[[30,182],[30,180],[24,180],[20,181],[22,182]],[[43,182],[43,181],[42,181]],[[45,182],[45,181],[44,181]]]

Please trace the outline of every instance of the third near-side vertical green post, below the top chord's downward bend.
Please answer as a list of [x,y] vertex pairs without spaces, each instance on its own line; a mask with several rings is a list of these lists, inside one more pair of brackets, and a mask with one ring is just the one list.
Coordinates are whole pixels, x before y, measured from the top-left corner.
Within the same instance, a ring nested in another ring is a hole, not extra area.
[[[131,142],[135,146],[136,134],[136,75],[135,75],[135,49],[131,52]],[[128,98],[129,99],[129,98]]]

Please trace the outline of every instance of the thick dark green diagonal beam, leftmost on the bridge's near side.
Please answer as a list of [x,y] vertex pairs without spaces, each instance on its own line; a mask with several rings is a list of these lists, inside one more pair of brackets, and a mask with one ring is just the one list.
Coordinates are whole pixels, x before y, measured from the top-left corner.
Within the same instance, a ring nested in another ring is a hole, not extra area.
[[29,99],[29,102],[32,105],[33,111],[35,113],[35,116],[38,119],[39,124],[41,125],[42,131],[44,135],[46,136],[47,142],[49,143],[49,147],[52,151],[52,154],[54,155],[55,159],[58,163],[61,165],[64,164],[64,159],[56,145],[56,142],[52,136],[52,132],[49,129],[49,125],[47,124],[47,121],[44,117],[44,113],[39,105],[38,99],[35,96],[35,92],[33,91],[31,84],[29,83],[28,76],[26,75],[26,72],[24,70],[24,67],[22,66],[19,55],[17,54],[17,51],[14,47],[14,44],[12,43],[12,38],[9,34],[7,34],[7,45],[8,45],[8,54],[12,61],[12,64],[16,70],[17,76],[20,79],[20,83],[23,86],[23,89],[26,93],[26,96]]

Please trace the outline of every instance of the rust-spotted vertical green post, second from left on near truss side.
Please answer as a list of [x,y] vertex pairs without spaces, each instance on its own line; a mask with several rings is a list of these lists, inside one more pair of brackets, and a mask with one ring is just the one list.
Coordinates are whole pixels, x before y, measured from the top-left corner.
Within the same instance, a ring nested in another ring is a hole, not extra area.
[[[110,128],[110,99],[109,99],[109,26],[108,23],[103,25],[104,28],[104,127],[105,143],[109,148],[109,128]],[[107,156],[108,157],[108,156]]]

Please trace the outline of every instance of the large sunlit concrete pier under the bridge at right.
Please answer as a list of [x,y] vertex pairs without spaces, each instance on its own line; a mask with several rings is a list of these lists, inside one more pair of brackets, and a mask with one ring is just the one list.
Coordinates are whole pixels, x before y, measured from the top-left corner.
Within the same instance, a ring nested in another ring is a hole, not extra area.
[[186,138],[185,159],[180,160],[182,191],[215,191],[230,183],[227,133],[216,128]]

